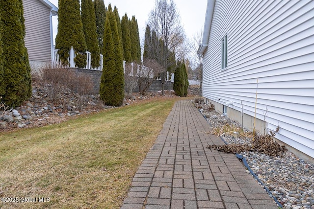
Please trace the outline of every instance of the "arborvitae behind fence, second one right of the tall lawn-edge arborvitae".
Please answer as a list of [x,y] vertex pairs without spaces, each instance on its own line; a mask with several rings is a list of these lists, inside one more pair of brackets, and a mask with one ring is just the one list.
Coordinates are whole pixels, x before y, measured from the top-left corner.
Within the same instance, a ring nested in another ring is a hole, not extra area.
[[132,16],[131,24],[130,24],[130,34],[131,34],[131,55],[132,60],[137,63],[141,62],[141,46],[139,43],[139,32],[138,25],[135,16]]

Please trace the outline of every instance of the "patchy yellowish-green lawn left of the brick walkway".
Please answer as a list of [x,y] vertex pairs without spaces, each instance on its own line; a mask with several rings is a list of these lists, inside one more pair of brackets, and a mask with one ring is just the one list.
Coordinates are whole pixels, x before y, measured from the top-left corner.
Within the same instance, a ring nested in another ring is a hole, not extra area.
[[[0,136],[0,208],[119,208],[176,99]],[[23,200],[23,199],[22,199]]]

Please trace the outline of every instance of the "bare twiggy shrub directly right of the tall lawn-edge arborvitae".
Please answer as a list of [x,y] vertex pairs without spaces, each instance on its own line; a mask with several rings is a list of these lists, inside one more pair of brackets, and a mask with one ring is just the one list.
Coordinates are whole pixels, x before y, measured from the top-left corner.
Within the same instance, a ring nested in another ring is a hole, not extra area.
[[124,73],[124,95],[127,99],[131,99],[132,93],[137,86],[137,81],[138,77],[134,76],[133,65],[127,63]]

